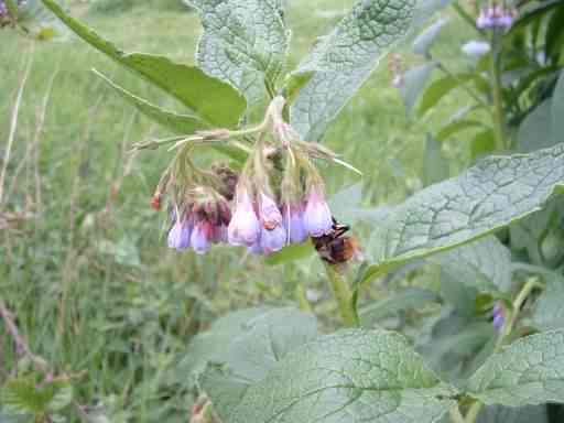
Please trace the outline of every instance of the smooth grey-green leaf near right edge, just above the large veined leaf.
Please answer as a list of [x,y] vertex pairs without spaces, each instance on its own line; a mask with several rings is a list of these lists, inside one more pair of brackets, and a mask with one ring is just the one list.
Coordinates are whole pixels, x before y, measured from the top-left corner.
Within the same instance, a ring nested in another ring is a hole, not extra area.
[[[556,140],[557,132],[554,132],[552,129],[552,124],[558,121],[558,118],[555,115],[555,110],[557,108],[558,106],[552,106],[552,99],[547,99],[527,115],[519,126],[519,131],[517,133],[517,145],[520,152],[529,153],[531,151],[552,147],[557,141],[564,141]],[[562,120],[562,115],[560,116],[560,120]],[[555,128],[557,128],[557,124],[558,123],[556,123]]]

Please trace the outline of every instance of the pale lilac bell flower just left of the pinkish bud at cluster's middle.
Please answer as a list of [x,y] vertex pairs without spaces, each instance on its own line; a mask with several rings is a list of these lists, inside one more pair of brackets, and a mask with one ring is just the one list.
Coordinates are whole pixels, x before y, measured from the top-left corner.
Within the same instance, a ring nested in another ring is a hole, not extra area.
[[227,238],[234,246],[252,246],[260,235],[260,224],[249,193],[241,189],[237,195],[237,206],[227,228]]

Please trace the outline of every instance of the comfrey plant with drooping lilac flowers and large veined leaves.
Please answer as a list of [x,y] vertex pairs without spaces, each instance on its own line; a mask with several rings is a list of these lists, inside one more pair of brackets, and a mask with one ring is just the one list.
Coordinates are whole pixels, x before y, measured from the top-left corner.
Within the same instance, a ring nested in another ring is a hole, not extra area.
[[[229,242],[261,254],[283,254],[307,237],[324,250],[319,240],[346,230],[332,218],[315,167],[319,160],[345,163],[317,142],[381,56],[432,13],[425,2],[360,0],[284,76],[289,31],[278,0],[191,1],[204,28],[197,66],[123,53],[54,0],[43,2],[86,42],[186,106],[183,113],[164,110],[106,78],[141,112],[178,133],[138,145],[171,144],[175,154],[153,197],[158,208],[167,198],[170,246],[205,252]],[[516,21],[507,30],[500,4],[480,6],[489,32],[484,36],[506,37],[520,28]],[[473,15],[456,8],[477,26],[480,9]],[[427,57],[430,39],[426,33],[425,43],[417,41]],[[507,151],[499,40],[488,53],[492,94],[470,93],[491,111],[496,145]],[[551,90],[556,112],[562,86]],[[242,126],[263,104],[262,123]],[[193,421],[473,423],[502,415],[512,422],[531,408],[543,415],[535,421],[547,421],[545,404],[564,402],[564,258],[541,245],[541,261],[528,262],[522,250],[533,246],[522,236],[520,254],[517,247],[512,254],[509,246],[519,237],[508,232],[545,212],[546,221],[562,221],[553,218],[560,206],[552,199],[564,186],[560,141],[486,158],[402,204],[361,210],[377,223],[356,276],[347,281],[333,261],[326,265],[346,328],[321,333],[302,302],[302,310],[237,311],[196,336],[182,366],[186,383],[203,395]],[[206,147],[229,156],[229,166],[198,169],[193,158]],[[551,246],[557,241],[554,236]],[[542,265],[549,258],[551,268]],[[383,303],[364,304],[362,290],[375,280],[388,285],[433,269],[440,269],[438,289],[410,286]],[[416,314],[408,322],[410,313]],[[402,317],[397,330],[382,328],[390,315]]]

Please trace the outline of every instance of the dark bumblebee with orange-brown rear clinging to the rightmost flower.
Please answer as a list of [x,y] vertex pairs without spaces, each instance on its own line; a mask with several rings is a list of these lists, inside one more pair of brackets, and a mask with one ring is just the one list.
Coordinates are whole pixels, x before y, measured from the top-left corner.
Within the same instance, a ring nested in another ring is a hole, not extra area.
[[344,264],[361,256],[357,239],[345,235],[349,230],[348,225],[341,225],[333,218],[330,232],[322,237],[312,237],[313,245],[323,261],[329,264]]

